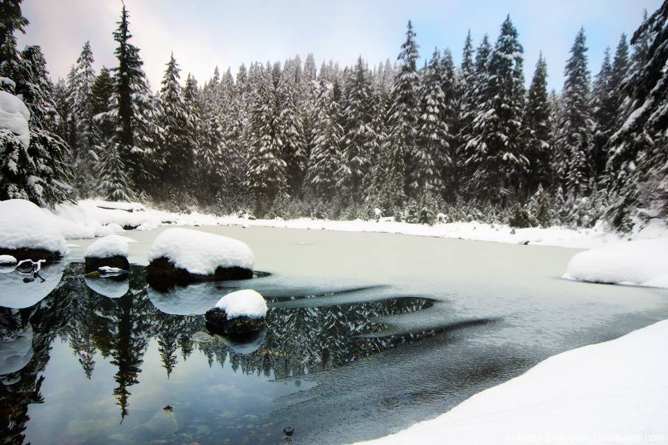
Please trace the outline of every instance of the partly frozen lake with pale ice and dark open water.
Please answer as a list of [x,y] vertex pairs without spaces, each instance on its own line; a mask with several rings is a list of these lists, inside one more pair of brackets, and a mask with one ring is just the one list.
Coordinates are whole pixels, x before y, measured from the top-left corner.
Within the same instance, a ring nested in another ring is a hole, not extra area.
[[[205,301],[193,304],[207,307],[210,300],[212,307],[228,290],[209,286],[177,301],[145,289],[135,268],[130,292],[112,299],[67,269],[69,287],[59,286],[53,302],[21,309],[23,315],[3,312],[6,330],[32,336],[22,382],[33,375],[34,389],[36,376],[44,376],[43,403],[4,396],[5,404],[11,399],[28,407],[30,420],[21,423],[26,443],[273,444],[285,440],[287,426],[294,428],[293,443],[372,439],[442,414],[550,355],[668,318],[668,291],[560,279],[578,252],[573,249],[303,229],[194,229],[244,241],[255,253],[255,270],[271,273],[223,284],[255,289],[269,300],[264,340],[255,350],[193,341],[201,317],[180,316],[182,302],[200,295]],[[161,230],[125,234],[137,241],[131,263],[146,264]],[[67,261],[81,261],[92,241],[70,241],[78,247]],[[124,291],[121,286],[113,296]],[[67,292],[81,295],[81,304],[67,300]],[[47,323],[42,314],[51,314],[49,305],[61,309]],[[77,322],[63,319],[67,311]],[[113,329],[102,319],[112,320]],[[102,327],[89,329],[90,320]],[[123,330],[134,334],[124,337]],[[123,341],[129,343],[118,344]],[[119,350],[134,350],[134,358]],[[22,385],[13,382],[16,374],[0,377],[4,387]],[[166,405],[173,410],[163,410]]]

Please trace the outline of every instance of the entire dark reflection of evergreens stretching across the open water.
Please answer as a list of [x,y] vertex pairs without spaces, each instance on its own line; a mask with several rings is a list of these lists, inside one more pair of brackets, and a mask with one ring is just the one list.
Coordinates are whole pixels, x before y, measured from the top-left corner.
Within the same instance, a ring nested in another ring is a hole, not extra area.
[[195,350],[209,362],[234,371],[286,378],[334,369],[429,333],[369,336],[383,329],[369,321],[374,316],[403,314],[431,305],[423,298],[392,298],[381,302],[331,307],[273,308],[266,317],[262,346],[242,354],[221,341],[198,343],[193,334],[205,329],[203,316],[169,315],[155,309],[148,298],[142,267],[133,266],[129,291],[120,298],[102,296],[86,286],[81,264],[65,268],[63,280],[47,298],[26,309],[0,308],[0,337],[12,339],[31,326],[33,357],[20,371],[0,376],[0,439],[21,444],[29,420],[28,405],[42,403],[42,372],[51,342],[67,341],[86,377],[95,372],[97,354],[117,367],[113,394],[121,417],[128,414],[132,385],[139,382],[143,356],[151,338],[157,340],[167,377]]

